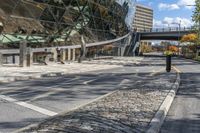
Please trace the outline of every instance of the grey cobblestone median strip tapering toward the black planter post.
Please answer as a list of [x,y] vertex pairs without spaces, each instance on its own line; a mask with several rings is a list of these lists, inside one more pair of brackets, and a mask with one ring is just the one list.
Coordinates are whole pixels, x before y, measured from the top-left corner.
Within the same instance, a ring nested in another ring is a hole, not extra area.
[[[144,75],[143,75],[144,76]],[[142,77],[142,82],[86,105],[74,112],[49,118],[20,132],[141,133],[171,90],[175,73]]]

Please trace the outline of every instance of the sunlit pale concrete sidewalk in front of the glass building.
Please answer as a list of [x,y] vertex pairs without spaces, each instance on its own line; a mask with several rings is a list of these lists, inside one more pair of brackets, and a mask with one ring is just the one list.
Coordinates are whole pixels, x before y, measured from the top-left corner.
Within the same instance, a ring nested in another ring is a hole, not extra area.
[[61,76],[64,74],[77,74],[91,71],[113,69],[123,67],[124,65],[139,64],[142,60],[143,58],[138,57],[113,57],[113,59],[83,61],[82,63],[51,63],[47,66],[33,65],[31,67],[24,68],[11,65],[4,65],[3,67],[0,67],[0,82],[11,82],[41,77]]

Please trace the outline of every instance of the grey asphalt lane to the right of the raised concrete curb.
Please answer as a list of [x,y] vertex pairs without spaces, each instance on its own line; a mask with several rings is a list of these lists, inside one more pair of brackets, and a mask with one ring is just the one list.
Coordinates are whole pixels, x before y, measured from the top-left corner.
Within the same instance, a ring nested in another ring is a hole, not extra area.
[[161,133],[200,132],[200,64],[173,60],[181,73],[181,86],[162,126]]

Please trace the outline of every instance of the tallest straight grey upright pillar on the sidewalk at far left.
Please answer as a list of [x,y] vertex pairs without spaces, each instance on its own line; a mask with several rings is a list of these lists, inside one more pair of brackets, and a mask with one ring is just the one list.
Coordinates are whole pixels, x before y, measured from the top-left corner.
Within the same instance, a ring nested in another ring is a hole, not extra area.
[[21,41],[19,47],[19,66],[26,67],[27,66],[27,42]]

